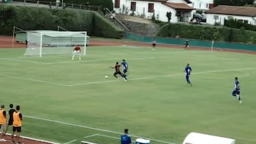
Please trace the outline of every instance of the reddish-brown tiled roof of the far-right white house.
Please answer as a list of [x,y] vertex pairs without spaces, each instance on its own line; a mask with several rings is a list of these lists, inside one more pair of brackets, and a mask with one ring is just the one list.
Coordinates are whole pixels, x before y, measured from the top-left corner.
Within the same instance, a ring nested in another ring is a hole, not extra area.
[[256,16],[256,8],[246,6],[219,5],[214,7],[213,9],[205,11],[205,13],[226,14],[235,16]]

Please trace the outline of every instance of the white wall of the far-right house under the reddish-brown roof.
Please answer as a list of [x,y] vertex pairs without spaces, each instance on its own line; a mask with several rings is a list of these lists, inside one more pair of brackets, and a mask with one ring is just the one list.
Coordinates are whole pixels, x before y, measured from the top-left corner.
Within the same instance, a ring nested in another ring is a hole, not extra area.
[[[218,17],[218,18],[217,18]],[[256,19],[254,20],[252,17],[248,16],[231,16],[231,15],[220,15],[220,14],[212,14],[206,13],[206,23],[214,25],[215,23],[220,23],[220,25],[224,25],[224,20],[233,17],[234,20],[242,20],[248,21],[248,24],[256,26]]]

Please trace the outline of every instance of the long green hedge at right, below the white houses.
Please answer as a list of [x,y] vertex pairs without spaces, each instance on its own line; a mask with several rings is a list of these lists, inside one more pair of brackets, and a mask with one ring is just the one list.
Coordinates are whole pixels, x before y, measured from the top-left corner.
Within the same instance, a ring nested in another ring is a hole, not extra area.
[[157,33],[161,37],[175,38],[176,35],[197,40],[256,43],[256,32],[236,28],[169,23],[162,26]]

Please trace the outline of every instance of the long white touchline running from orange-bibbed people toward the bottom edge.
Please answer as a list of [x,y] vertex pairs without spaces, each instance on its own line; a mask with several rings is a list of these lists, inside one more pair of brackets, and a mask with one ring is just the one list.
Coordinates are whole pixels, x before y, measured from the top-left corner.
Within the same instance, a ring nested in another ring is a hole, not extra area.
[[[119,134],[119,135],[123,134],[123,133],[118,133],[118,132],[115,132],[115,131],[105,130],[105,129],[102,129],[102,128],[92,128],[90,126],[82,126],[82,125],[77,125],[77,124],[73,124],[73,123],[66,123],[66,122],[63,122],[63,121],[50,120],[50,119],[46,119],[46,118],[38,118],[36,116],[24,116],[24,117],[38,119],[38,120],[41,120],[41,121],[49,121],[49,122],[53,122],[53,123],[60,123],[60,124],[68,125],[68,126],[76,126],[76,127],[79,127],[79,128],[87,128],[87,129],[91,129],[91,130],[95,130],[95,131],[103,131],[103,132],[106,132],[106,133],[115,133],[115,134]],[[96,134],[96,135],[99,135],[99,134]],[[89,135],[89,136],[92,137],[92,136],[95,136],[95,135]],[[144,138],[144,137],[137,136],[137,135],[130,135],[130,136],[132,136],[134,138]],[[153,141],[160,142],[160,143],[176,144],[176,143],[166,142],[166,141],[163,141],[163,140],[156,140],[154,138],[145,138],[145,139],[153,140]]]

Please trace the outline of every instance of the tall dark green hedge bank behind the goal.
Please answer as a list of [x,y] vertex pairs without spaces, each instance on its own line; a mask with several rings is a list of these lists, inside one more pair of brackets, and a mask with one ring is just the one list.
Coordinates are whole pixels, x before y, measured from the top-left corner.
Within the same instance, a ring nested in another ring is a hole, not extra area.
[[95,11],[0,5],[0,13],[0,35],[12,35],[14,26],[23,30],[55,31],[61,26],[69,31],[87,31],[88,35],[107,38],[121,38],[124,33]]

